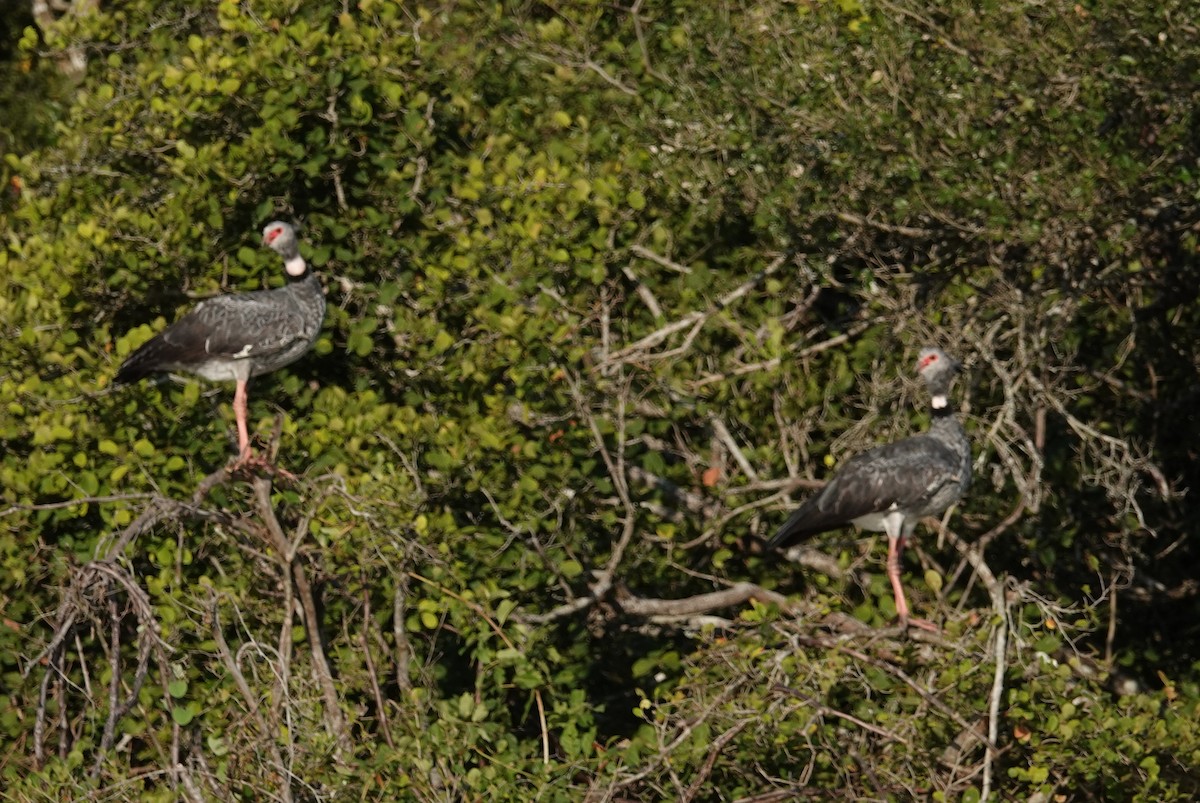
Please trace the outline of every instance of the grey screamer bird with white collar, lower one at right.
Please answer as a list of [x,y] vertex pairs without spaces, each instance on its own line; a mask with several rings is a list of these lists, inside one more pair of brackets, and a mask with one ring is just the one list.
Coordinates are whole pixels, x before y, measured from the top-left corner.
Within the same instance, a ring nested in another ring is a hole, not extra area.
[[[888,580],[900,624],[908,603],[900,585],[900,555],[917,522],[942,513],[971,484],[971,443],[949,408],[947,394],[959,364],[940,348],[923,348],[917,373],[930,395],[932,423],[926,432],[883,444],[846,461],[820,493],[793,513],[768,547],[780,549],[850,523],[888,534]],[[936,630],[929,622],[916,627]]]

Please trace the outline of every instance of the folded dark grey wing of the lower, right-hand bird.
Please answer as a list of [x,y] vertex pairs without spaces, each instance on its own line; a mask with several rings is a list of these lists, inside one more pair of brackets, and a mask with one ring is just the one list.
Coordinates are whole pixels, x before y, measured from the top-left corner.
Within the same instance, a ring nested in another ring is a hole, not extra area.
[[924,435],[856,455],[784,522],[768,546],[787,546],[874,513],[925,515],[940,492],[960,481],[959,462],[949,447]]

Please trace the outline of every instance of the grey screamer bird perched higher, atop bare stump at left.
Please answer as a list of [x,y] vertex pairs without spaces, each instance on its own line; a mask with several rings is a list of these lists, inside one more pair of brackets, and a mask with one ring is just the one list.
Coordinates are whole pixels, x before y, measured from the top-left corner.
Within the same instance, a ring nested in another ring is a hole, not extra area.
[[263,245],[283,257],[284,287],[230,293],[206,299],[133,352],[116,382],[137,382],[151,373],[186,371],[205,379],[235,382],[238,462],[250,460],[246,383],[298,360],[320,331],[325,294],[300,256],[295,229],[281,221],[263,229]]

